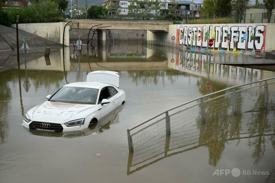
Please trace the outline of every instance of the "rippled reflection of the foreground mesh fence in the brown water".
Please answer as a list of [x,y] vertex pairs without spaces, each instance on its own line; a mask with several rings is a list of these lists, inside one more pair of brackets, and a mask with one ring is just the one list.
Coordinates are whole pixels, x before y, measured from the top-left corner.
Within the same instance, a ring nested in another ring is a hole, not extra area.
[[[208,164],[216,167],[226,150],[226,144],[235,143],[238,146],[241,139],[248,139],[247,145],[253,149],[251,157],[257,165],[265,155],[265,145],[275,143],[274,121],[274,110],[261,110],[236,116],[223,115],[215,120],[211,118],[188,132],[183,128],[182,131],[160,138],[155,144],[129,153],[127,174],[201,146],[208,148]],[[275,150],[275,146],[273,148]]]

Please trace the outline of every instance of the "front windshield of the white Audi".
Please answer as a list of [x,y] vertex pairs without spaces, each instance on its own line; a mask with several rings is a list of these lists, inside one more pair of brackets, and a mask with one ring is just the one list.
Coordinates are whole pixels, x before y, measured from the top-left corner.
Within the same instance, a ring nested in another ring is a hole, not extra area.
[[82,87],[62,87],[49,101],[76,104],[95,104],[98,89]]

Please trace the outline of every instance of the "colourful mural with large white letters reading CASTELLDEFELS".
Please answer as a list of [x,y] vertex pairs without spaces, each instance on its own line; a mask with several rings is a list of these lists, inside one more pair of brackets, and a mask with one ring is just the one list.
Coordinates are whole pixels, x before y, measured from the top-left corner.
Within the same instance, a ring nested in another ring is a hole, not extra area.
[[[185,24],[177,26],[177,43],[185,45],[190,50],[261,51],[265,49],[266,24]],[[209,39],[214,41],[211,47],[208,47]]]

